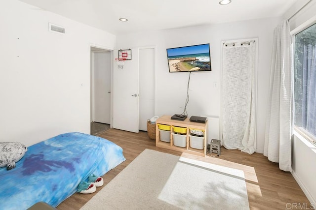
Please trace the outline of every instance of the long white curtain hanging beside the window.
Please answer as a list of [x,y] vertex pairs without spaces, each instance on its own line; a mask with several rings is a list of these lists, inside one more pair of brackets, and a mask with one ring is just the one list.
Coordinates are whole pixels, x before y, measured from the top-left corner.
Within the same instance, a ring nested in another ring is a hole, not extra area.
[[264,155],[283,171],[291,167],[292,68],[288,21],[274,31]]

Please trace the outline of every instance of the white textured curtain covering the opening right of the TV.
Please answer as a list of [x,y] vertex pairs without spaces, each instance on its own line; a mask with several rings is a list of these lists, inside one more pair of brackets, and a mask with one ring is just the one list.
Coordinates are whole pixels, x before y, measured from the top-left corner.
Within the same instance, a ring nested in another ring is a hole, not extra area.
[[223,146],[249,154],[256,144],[255,41],[222,46]]

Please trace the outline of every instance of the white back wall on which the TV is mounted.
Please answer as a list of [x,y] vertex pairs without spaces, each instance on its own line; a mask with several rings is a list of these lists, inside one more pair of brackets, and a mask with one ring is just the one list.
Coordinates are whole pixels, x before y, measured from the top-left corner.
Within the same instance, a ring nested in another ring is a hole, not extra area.
[[[156,111],[157,115],[183,112],[188,72],[169,73],[166,48],[210,43],[211,72],[195,72],[190,80],[189,116],[220,115],[221,41],[245,38],[259,39],[257,152],[263,152],[265,115],[270,79],[274,28],[280,18],[248,20],[227,24],[205,25],[175,30],[117,36],[118,49],[156,45]],[[132,61],[137,61],[133,57]],[[217,87],[214,87],[214,83]]]

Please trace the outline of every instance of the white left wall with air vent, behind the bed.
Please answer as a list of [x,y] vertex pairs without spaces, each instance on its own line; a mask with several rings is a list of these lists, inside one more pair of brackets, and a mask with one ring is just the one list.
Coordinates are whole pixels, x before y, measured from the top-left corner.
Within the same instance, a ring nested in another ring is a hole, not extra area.
[[89,43],[114,49],[116,36],[18,0],[0,1],[0,29],[0,141],[89,133]]

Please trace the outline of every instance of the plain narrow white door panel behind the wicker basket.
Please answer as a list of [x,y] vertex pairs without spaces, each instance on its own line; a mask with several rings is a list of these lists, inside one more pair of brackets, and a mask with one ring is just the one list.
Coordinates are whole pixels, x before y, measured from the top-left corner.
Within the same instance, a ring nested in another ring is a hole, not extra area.
[[155,114],[155,48],[139,49],[139,130]]

